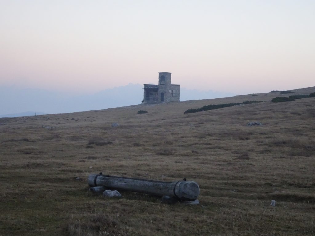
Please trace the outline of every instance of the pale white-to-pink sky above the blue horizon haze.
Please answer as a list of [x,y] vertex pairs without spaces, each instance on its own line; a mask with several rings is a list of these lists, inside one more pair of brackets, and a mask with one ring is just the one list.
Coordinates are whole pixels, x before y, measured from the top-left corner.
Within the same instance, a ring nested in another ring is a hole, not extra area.
[[157,83],[315,86],[315,1],[0,0],[0,86],[93,93]]

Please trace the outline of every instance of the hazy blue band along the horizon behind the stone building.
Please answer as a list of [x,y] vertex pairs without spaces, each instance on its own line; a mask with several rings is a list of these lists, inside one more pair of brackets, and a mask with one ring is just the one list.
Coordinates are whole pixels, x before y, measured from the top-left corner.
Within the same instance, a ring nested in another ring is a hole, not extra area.
[[[129,83],[126,86],[105,89],[94,94],[72,95],[44,89],[21,89],[17,86],[0,87],[0,117],[68,113],[101,110],[140,104],[143,85]],[[180,101],[231,97],[236,94],[196,89],[180,89]],[[26,112],[27,111],[27,112]],[[42,112],[37,112],[42,111]]]

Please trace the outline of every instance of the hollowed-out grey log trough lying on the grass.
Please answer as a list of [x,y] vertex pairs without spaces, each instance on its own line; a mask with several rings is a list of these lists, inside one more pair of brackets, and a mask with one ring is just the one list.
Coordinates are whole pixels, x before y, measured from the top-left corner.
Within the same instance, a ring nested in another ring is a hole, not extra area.
[[199,185],[194,181],[164,182],[138,178],[117,177],[102,174],[90,174],[88,183],[93,186],[104,186],[109,189],[152,194],[157,196],[173,196],[181,201],[196,200]]

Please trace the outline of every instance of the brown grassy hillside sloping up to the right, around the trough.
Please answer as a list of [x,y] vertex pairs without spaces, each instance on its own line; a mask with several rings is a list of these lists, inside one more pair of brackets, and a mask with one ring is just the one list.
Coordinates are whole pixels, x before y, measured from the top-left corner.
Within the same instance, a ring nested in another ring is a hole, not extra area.
[[[256,95],[0,118],[0,235],[314,235],[315,98]],[[264,102],[183,114],[245,100]],[[98,172],[187,178],[200,205],[95,196]]]

